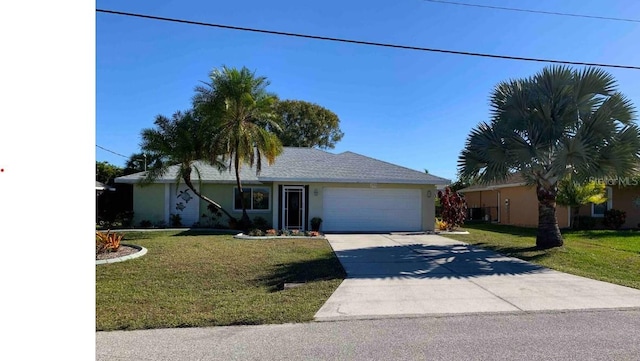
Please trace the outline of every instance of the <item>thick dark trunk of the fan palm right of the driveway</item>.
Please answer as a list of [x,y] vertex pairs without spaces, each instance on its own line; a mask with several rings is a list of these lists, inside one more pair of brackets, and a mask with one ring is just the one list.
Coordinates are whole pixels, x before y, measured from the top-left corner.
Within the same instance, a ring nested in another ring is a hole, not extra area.
[[536,246],[538,248],[553,248],[563,245],[562,235],[556,217],[556,196],[554,189],[545,189],[541,185],[536,189],[538,196],[538,234]]

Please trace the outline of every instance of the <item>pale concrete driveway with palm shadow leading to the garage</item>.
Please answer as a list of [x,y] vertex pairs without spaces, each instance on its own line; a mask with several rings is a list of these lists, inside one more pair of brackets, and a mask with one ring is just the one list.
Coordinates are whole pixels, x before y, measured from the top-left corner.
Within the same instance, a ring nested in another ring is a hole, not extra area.
[[317,321],[640,307],[640,290],[437,235],[327,235],[347,272]]

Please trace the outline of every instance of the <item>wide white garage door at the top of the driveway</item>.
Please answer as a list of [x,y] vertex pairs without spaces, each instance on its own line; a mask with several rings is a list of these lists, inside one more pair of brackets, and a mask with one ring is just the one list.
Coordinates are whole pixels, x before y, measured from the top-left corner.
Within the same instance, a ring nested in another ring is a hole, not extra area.
[[420,189],[325,188],[322,229],[326,232],[419,231]]

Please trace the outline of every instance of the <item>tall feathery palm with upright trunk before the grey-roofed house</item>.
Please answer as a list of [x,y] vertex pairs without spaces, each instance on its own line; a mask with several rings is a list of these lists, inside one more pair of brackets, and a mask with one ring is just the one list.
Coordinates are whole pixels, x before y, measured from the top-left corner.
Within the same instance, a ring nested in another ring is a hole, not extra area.
[[194,108],[216,124],[210,159],[221,157],[235,170],[236,184],[242,204],[241,226],[251,221],[247,214],[245,193],[240,179],[240,167],[262,169],[263,157],[269,164],[282,152],[282,143],[273,130],[280,131],[274,112],[275,95],[266,91],[267,78],[256,76],[246,67],[214,69],[210,82],[196,88]]

